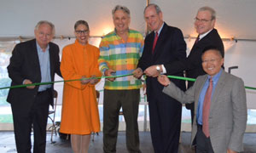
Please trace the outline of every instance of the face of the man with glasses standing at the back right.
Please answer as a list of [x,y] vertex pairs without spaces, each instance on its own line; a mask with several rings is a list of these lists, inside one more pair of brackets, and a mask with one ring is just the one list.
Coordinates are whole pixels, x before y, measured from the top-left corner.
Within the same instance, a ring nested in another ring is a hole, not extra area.
[[214,28],[215,19],[212,20],[210,11],[199,11],[195,17],[195,30],[198,34],[204,34]]

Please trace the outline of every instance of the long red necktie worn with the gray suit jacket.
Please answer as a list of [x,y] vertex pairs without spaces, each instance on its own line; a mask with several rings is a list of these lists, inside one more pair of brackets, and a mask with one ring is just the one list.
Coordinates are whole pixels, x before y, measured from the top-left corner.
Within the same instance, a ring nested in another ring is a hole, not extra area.
[[207,136],[210,136],[209,130],[209,114],[210,114],[210,107],[211,107],[211,98],[212,98],[212,77],[209,80],[209,87],[207,88],[207,93],[205,95],[204,104],[203,104],[203,125],[202,130],[203,133]]

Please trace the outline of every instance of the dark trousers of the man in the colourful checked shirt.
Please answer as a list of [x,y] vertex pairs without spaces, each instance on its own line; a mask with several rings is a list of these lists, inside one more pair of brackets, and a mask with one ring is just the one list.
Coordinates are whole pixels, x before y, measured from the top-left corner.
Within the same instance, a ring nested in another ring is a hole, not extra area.
[[122,107],[126,123],[126,147],[129,152],[139,150],[139,133],[137,125],[139,89],[104,90],[103,99],[103,150],[116,152],[119,128],[119,110]]

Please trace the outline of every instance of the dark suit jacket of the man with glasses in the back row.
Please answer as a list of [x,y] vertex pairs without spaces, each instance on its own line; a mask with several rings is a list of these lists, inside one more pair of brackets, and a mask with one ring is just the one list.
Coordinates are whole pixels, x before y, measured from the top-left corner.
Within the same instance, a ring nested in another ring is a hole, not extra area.
[[[224,56],[224,44],[216,29],[210,31],[207,36],[203,37],[199,42],[194,44],[187,59],[166,64],[165,67],[167,73],[175,74],[178,71],[186,71],[186,77],[191,78],[205,75],[206,72],[203,71],[201,66],[201,54],[202,51],[209,46],[214,46],[220,49]],[[190,88],[193,83],[194,82],[189,82],[188,88]],[[186,105],[186,107],[192,109],[194,105]]]

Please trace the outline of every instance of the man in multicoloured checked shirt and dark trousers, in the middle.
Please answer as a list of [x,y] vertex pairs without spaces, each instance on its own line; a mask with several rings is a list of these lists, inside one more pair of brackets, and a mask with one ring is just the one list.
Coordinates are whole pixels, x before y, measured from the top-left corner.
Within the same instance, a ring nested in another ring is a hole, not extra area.
[[[129,29],[130,10],[113,8],[114,31],[102,38],[100,70],[106,77],[131,74],[143,52],[143,36]],[[103,150],[116,152],[119,110],[122,107],[126,123],[126,146],[129,152],[141,152],[137,125],[142,82],[133,76],[108,78],[103,99]]]

